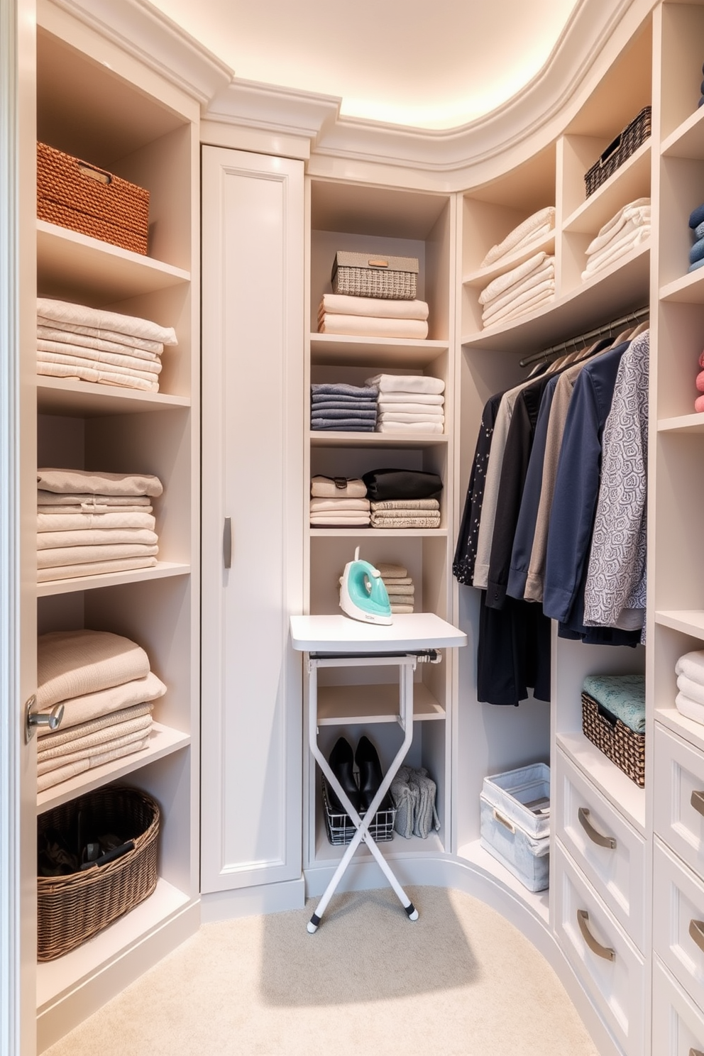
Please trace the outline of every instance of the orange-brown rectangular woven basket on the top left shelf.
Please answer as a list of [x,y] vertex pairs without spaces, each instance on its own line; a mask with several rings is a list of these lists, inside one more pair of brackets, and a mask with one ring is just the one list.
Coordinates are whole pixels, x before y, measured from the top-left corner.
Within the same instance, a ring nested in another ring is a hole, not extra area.
[[149,191],[37,144],[37,215],[50,224],[147,252]]

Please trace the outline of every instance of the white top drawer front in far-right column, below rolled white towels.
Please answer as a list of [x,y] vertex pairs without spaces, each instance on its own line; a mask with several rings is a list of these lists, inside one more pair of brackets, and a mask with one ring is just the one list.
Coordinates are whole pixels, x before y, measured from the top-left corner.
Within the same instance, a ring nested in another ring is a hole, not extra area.
[[655,833],[700,875],[704,873],[704,755],[655,722]]

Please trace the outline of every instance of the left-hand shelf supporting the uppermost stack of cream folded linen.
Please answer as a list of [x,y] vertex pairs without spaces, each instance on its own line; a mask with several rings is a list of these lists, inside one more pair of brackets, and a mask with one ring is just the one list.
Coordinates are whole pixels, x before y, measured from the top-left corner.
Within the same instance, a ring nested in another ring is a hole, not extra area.
[[173,411],[190,406],[191,401],[187,396],[145,393],[138,389],[37,375],[37,410],[43,414],[101,418],[111,414],[145,414],[148,411]]

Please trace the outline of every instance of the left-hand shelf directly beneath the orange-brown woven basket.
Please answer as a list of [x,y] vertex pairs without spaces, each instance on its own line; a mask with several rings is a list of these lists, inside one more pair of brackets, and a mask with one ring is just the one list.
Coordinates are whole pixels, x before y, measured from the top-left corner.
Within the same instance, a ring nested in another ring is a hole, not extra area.
[[190,282],[190,271],[66,227],[37,221],[37,289],[65,297],[79,288],[92,307]]

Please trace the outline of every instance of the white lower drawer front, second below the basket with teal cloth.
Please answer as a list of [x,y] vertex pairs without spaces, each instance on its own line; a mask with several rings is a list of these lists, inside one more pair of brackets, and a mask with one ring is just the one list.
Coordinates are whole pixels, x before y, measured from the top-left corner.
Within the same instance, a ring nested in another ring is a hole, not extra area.
[[627,1056],[643,1056],[643,958],[559,841],[555,842],[555,932],[582,985]]

